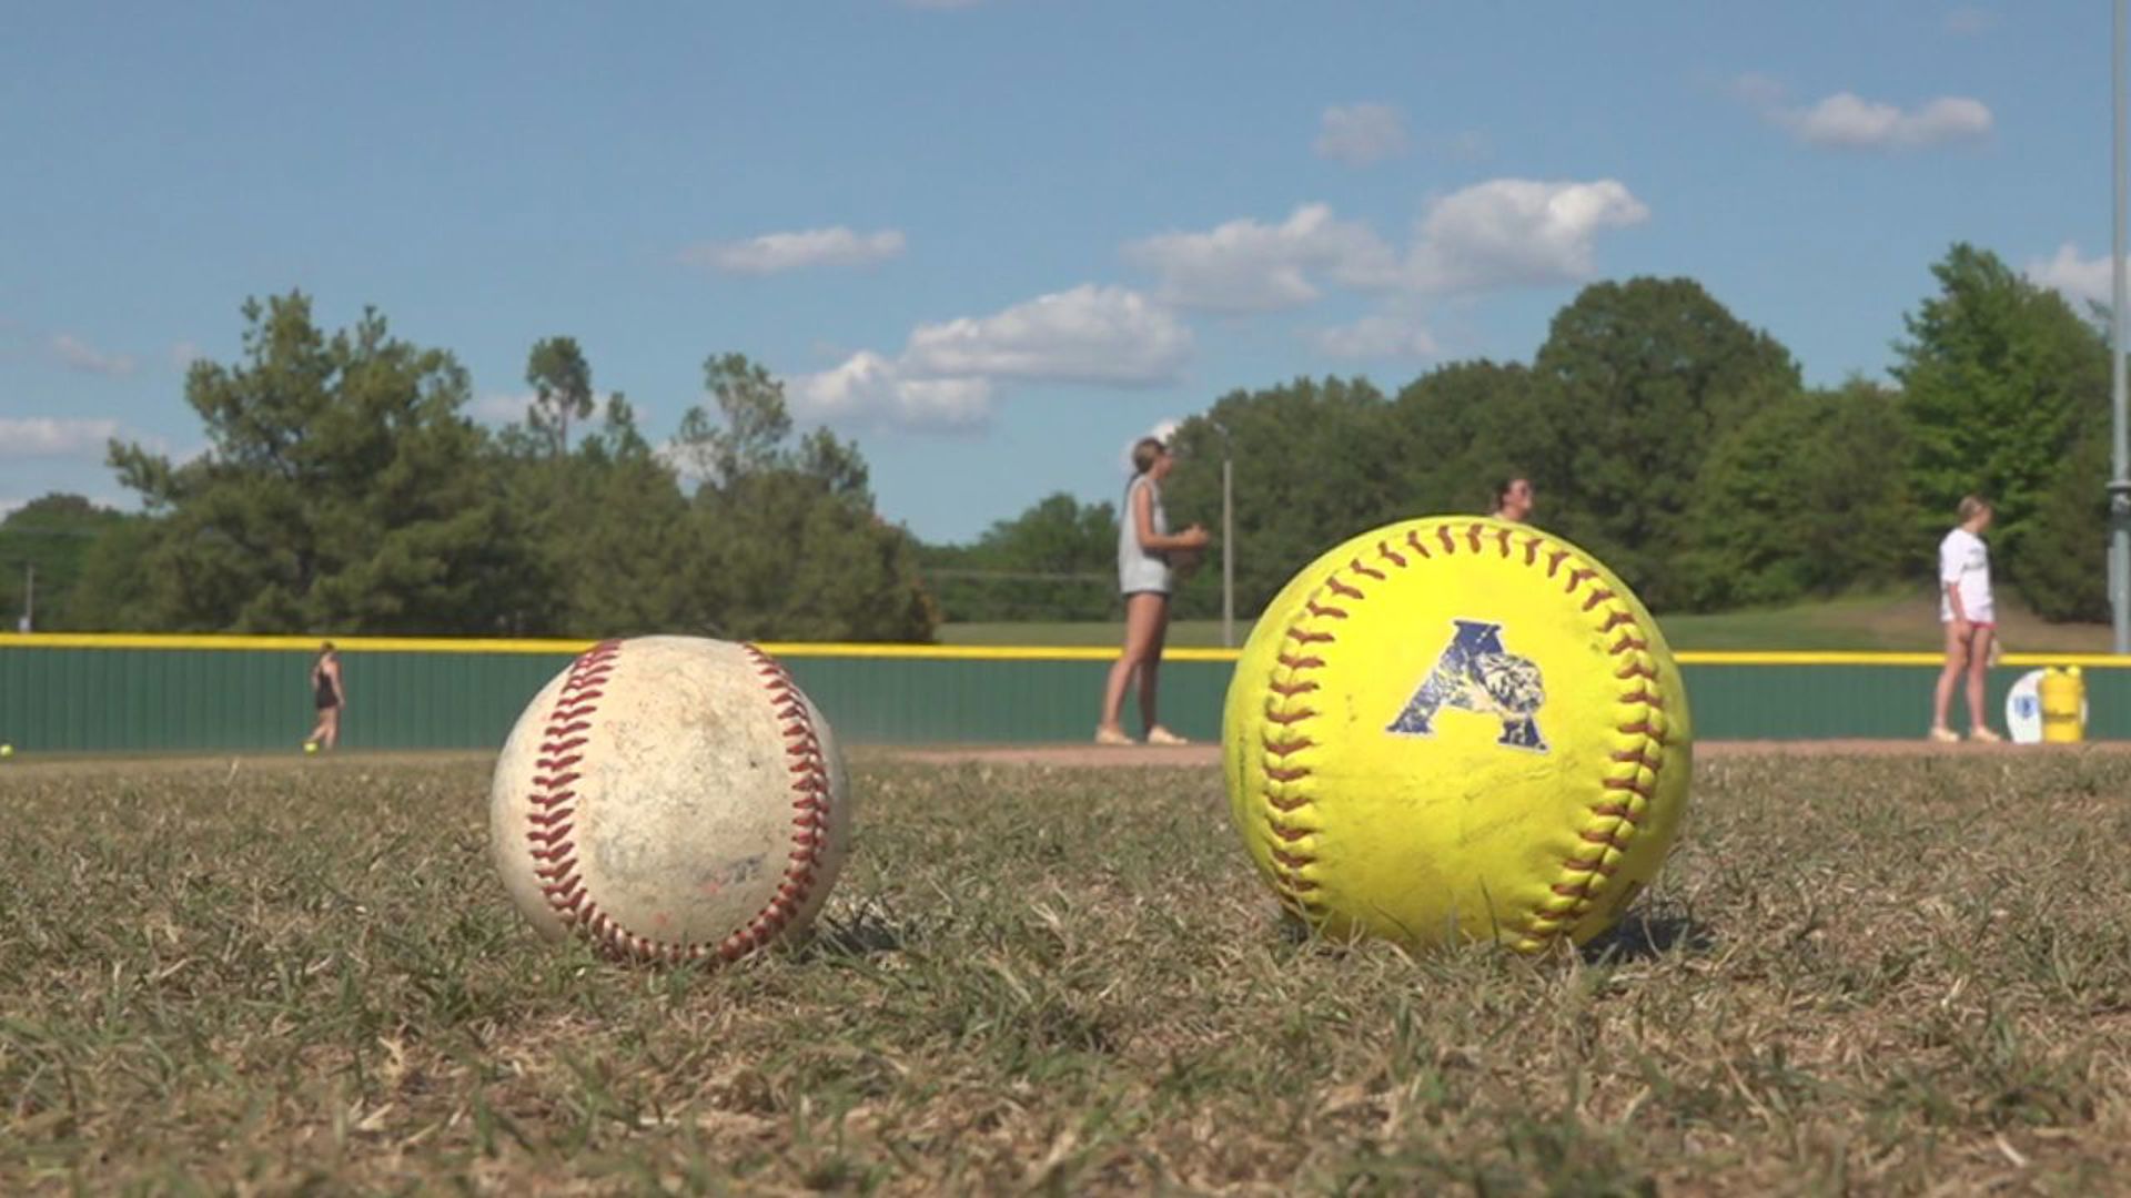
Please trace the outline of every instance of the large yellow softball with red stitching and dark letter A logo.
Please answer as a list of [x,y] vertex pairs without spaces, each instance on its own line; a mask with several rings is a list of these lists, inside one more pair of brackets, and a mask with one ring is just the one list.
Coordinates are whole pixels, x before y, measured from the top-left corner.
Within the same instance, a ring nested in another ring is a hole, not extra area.
[[1230,814],[1328,936],[1536,953],[1658,874],[1692,774],[1649,612],[1524,524],[1434,516],[1323,554],[1257,620],[1223,714]]

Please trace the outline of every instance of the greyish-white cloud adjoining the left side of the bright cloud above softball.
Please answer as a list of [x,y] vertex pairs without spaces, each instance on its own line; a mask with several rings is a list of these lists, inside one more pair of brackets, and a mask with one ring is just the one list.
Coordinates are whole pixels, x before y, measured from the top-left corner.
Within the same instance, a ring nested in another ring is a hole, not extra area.
[[1204,311],[1276,311],[1315,303],[1323,281],[1385,286],[1396,254],[1330,205],[1302,205],[1276,226],[1232,220],[1208,232],[1164,232],[1125,247],[1161,275],[1161,298]]

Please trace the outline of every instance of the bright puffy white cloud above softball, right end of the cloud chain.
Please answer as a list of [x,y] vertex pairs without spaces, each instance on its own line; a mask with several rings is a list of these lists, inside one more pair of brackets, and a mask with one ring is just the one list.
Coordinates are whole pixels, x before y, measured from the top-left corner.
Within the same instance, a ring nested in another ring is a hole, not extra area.
[[1645,220],[1649,209],[1615,179],[1492,179],[1430,205],[1406,281],[1424,292],[1473,292],[1588,279],[1598,234]]

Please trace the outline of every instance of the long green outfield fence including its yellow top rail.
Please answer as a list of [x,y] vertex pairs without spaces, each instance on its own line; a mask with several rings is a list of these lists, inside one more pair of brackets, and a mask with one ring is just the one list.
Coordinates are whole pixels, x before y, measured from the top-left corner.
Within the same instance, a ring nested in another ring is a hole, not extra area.
[[[347,637],[347,748],[497,748],[539,686],[590,642]],[[0,742],[19,752],[294,748],[311,727],[309,637],[0,635]],[[1106,648],[765,644],[846,744],[1087,740]],[[1164,723],[1221,733],[1236,650],[1170,650]],[[1931,714],[1933,654],[1683,652],[1701,740],[1909,740]],[[2027,669],[2080,665],[2091,740],[2131,738],[2131,659],[2010,654],[1990,710]]]

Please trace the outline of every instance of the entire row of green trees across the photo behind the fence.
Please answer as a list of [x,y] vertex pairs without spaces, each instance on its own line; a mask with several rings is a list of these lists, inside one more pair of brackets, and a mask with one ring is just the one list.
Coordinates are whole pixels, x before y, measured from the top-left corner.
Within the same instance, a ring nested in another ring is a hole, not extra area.
[[[1892,386],[1805,386],[1692,279],[1605,281],[1530,362],[1219,396],[1178,428],[1166,503],[1217,529],[1234,460],[1251,616],[1325,546],[1485,512],[1528,477],[1539,527],[1679,612],[1931,586],[1954,503],[1982,492],[1999,578],[2046,618],[2105,618],[2099,313],[1973,245],[1933,277]],[[47,497],[0,522],[0,565],[38,563],[40,627],[923,642],[942,618],[1117,612],[1110,503],[1053,495],[972,544],[921,544],[876,514],[859,448],[799,435],[746,356],[705,360],[707,403],[654,448],[567,337],[533,345],[524,418],[488,431],[465,414],[465,369],[375,311],[337,333],[303,294],[243,315],[241,360],[185,379],[205,456],[111,446],[143,514]],[[1217,563],[1181,614],[1219,612]],[[0,578],[0,601],[19,610],[19,588]]]

